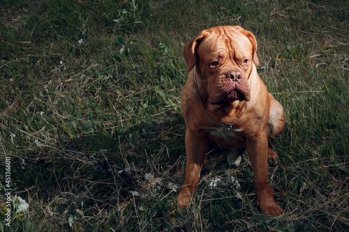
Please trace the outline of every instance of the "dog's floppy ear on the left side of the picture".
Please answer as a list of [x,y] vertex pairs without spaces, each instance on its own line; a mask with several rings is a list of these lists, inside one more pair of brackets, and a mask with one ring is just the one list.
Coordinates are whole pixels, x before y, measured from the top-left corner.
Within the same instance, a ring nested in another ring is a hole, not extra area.
[[188,64],[188,68],[186,69],[186,72],[190,72],[196,65],[196,62],[197,62],[196,52],[198,51],[198,46],[200,45],[200,42],[208,34],[209,33],[204,30],[197,37],[193,38],[190,42],[184,45],[183,55],[184,55],[184,59],[186,59],[186,63]]

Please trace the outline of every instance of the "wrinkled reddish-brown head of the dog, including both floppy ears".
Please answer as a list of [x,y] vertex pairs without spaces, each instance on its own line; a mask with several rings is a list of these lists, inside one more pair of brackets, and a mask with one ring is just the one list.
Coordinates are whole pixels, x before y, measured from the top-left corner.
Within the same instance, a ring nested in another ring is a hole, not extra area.
[[202,31],[184,46],[187,72],[195,65],[198,79],[212,105],[250,100],[249,78],[253,63],[259,64],[257,42],[240,26],[217,26]]

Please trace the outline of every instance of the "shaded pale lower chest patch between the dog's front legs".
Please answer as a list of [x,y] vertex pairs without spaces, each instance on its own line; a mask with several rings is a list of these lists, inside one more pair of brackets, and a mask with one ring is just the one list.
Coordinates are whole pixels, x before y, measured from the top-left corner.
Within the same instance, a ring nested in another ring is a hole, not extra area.
[[241,148],[244,147],[243,130],[233,130],[230,127],[211,127],[207,128],[209,139],[216,142],[223,148]]

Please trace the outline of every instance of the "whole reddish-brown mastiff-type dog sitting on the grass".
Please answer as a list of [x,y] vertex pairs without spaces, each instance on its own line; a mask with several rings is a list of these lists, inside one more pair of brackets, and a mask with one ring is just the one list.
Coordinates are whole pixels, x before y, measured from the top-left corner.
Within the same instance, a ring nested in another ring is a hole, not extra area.
[[181,95],[186,121],[186,180],[177,197],[188,206],[199,183],[209,140],[231,149],[228,160],[239,163],[246,148],[252,165],[255,193],[262,212],[278,216],[268,183],[267,159],[277,155],[268,147],[269,136],[285,126],[283,107],[268,93],[255,65],[257,42],[240,26],[217,26],[202,31],[184,46],[189,72]]

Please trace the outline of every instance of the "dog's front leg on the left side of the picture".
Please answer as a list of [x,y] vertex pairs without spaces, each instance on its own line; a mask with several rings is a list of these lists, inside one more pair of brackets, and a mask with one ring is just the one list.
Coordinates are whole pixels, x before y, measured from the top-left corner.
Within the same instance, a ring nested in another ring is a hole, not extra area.
[[177,197],[179,207],[189,206],[199,183],[202,163],[208,148],[208,138],[205,132],[186,130],[186,179]]

